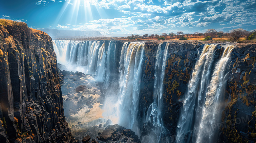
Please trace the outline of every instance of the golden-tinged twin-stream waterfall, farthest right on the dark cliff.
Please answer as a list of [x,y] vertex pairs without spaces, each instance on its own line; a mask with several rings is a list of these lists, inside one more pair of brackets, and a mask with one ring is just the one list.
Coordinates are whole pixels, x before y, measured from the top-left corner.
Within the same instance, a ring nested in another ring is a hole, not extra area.
[[[205,45],[196,62],[192,78],[184,95],[183,108],[177,128],[177,142],[213,142],[215,133],[205,132],[206,128],[215,130],[221,109],[219,105],[223,95],[227,63],[232,46],[224,47],[224,52],[215,65],[215,44]],[[214,69],[212,73],[212,69]]]

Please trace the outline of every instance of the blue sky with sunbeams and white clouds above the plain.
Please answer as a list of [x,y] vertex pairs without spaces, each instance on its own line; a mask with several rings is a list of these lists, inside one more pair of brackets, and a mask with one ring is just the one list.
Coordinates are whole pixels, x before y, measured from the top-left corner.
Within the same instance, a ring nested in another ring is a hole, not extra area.
[[256,0],[2,0],[0,18],[102,34],[256,29]]

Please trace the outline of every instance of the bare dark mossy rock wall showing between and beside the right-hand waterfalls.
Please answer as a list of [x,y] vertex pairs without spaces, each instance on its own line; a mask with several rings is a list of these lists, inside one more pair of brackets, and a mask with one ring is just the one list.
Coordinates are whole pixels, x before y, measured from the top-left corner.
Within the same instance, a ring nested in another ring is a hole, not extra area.
[[[209,42],[212,43],[212,42]],[[198,58],[198,50],[204,42],[170,42],[168,60],[164,77],[164,113],[165,127],[175,141],[177,121],[179,120],[182,97],[187,91],[187,84]],[[165,45],[165,44],[162,44]],[[223,53],[222,43],[217,45],[215,59]],[[231,52],[229,72],[225,87],[225,104],[222,106],[222,121],[217,123],[218,142],[255,142],[256,141],[256,45],[234,45]],[[145,64],[143,64],[139,115],[145,114],[145,108],[152,103],[155,56],[158,44],[145,43]],[[164,48],[164,47],[162,47]],[[147,126],[141,128],[141,134],[147,134]],[[196,133],[190,133],[193,136]],[[188,137],[186,136],[186,137]],[[191,140],[192,142],[192,140]]]

